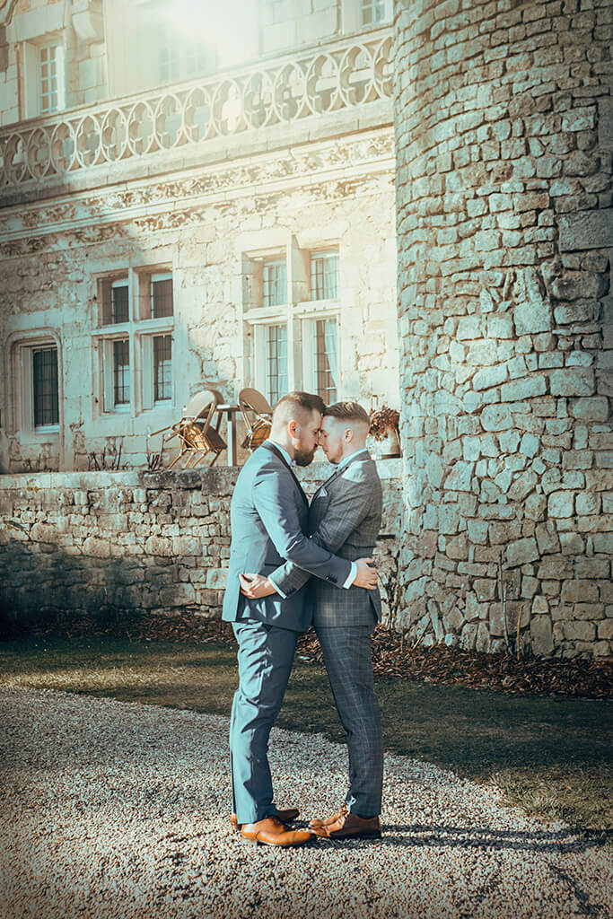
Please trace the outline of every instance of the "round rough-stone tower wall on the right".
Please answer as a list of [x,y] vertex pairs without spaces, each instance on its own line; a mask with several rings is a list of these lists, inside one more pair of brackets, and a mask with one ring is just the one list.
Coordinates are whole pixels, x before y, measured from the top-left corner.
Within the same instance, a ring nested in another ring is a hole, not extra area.
[[612,6],[396,14],[404,622],[607,656]]

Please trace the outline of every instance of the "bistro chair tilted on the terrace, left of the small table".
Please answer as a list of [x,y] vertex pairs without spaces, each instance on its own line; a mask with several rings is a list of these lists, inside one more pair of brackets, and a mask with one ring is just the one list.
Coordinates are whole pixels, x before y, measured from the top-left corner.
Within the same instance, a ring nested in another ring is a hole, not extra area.
[[[183,409],[183,416],[175,425],[168,425],[151,435],[162,434],[162,449],[173,437],[179,438],[179,452],[175,459],[168,465],[172,469],[179,463],[182,469],[195,469],[199,463],[210,453],[213,466],[220,453],[226,449],[226,442],[219,433],[221,414],[217,416],[217,425],[211,424],[213,414],[219,404],[223,403],[221,393],[216,390],[202,390],[187,403]],[[172,431],[165,437],[165,431]]]

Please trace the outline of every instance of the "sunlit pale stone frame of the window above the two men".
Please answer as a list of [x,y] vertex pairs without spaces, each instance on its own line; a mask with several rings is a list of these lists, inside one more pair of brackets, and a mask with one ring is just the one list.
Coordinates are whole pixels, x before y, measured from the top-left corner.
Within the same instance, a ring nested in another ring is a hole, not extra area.
[[[239,237],[239,250],[243,267],[243,329],[245,361],[245,385],[253,385],[267,395],[266,329],[268,325],[287,323],[288,326],[288,388],[289,391],[304,389],[317,391],[315,367],[315,323],[318,319],[336,320],[336,361],[338,379],[336,390],[342,389],[342,335],[340,335],[340,290],[334,300],[311,300],[311,258],[321,252],[329,255],[339,253],[338,239],[326,238],[318,244],[299,245],[295,236],[283,231],[261,231],[244,234],[248,241]],[[311,241],[310,241],[311,242]],[[244,243],[244,247],[241,245]],[[262,244],[262,245],[258,245]],[[268,245],[267,245],[268,244]],[[278,258],[286,259],[288,267],[288,302],[280,306],[263,307],[262,271],[265,262]],[[301,323],[299,325],[299,323]],[[301,338],[297,333],[301,327]],[[305,347],[305,344],[307,345]],[[268,395],[267,395],[268,397]]]

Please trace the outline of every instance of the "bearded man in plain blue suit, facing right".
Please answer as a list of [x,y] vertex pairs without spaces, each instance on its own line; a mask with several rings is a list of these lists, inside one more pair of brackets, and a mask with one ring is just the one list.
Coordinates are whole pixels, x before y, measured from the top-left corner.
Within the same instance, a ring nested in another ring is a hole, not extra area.
[[302,845],[312,835],[285,825],[298,811],[278,811],[267,760],[268,736],[288,685],[298,634],[311,624],[311,608],[301,588],[250,599],[241,594],[241,585],[286,561],[336,587],[372,590],[377,584],[372,559],[340,558],[304,535],[309,505],[291,467],[312,462],[323,413],[323,401],[307,392],[279,400],[270,437],[244,464],[231,505],[223,618],[233,623],[238,641],[239,686],[230,726],[233,825],[244,839],[266,845]]

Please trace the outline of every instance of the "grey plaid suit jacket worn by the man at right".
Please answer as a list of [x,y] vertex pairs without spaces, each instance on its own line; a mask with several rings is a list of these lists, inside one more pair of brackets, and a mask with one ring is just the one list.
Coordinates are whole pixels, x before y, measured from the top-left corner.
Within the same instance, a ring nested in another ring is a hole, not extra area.
[[[381,524],[383,504],[377,466],[369,453],[359,453],[335,470],[315,492],[309,509],[307,534],[317,545],[355,562],[372,555]],[[271,573],[289,596],[300,590],[310,573],[286,562]],[[314,577],[308,587],[312,623],[317,626],[372,625],[381,616],[379,589],[347,590]]]

